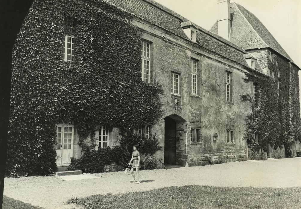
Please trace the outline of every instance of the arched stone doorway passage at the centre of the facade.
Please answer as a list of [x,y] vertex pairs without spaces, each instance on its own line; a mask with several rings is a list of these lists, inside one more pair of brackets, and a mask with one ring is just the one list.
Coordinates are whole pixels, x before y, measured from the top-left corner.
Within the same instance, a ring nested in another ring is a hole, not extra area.
[[187,122],[178,115],[164,118],[164,164],[186,165]]

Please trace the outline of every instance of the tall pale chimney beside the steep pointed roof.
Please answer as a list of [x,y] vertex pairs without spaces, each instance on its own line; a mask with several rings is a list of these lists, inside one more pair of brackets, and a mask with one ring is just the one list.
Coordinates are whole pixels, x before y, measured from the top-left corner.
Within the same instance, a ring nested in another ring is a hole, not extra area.
[[230,0],[218,0],[218,35],[229,40],[231,30]]

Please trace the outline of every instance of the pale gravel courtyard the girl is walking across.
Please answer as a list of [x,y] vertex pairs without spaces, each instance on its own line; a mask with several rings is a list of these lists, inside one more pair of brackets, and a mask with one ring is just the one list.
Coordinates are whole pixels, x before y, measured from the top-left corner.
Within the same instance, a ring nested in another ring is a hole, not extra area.
[[32,205],[56,209],[71,197],[94,194],[133,192],[165,186],[190,184],[230,187],[299,187],[301,158],[140,171],[140,184],[130,183],[131,175],[123,171],[96,174],[100,178],[62,181],[56,177],[6,178],[4,194]]

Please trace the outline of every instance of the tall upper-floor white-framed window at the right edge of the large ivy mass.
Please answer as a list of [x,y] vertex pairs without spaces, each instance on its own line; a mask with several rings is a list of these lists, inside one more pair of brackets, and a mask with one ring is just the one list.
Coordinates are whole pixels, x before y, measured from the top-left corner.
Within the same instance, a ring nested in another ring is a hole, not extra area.
[[141,78],[145,83],[150,82],[150,45],[151,44],[146,41],[141,41]]

